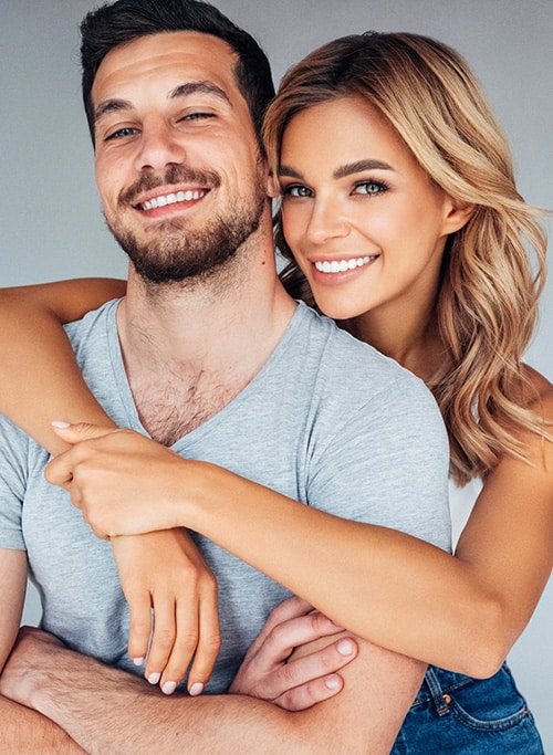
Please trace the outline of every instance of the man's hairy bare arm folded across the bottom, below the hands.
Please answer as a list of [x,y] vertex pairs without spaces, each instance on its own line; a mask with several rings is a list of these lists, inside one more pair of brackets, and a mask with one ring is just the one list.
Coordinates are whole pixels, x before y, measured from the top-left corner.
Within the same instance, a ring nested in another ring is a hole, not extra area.
[[3,694],[67,731],[92,755],[161,753],[389,753],[424,665],[359,641],[344,690],[290,713],[243,695],[164,698],[125,672],[25,630],[0,680]]

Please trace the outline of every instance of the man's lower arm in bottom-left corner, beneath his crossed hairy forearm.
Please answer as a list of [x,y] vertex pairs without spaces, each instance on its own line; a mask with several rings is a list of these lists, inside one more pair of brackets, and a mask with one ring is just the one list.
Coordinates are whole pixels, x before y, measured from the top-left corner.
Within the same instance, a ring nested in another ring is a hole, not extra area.
[[41,713],[0,696],[1,753],[10,755],[79,755],[83,749]]

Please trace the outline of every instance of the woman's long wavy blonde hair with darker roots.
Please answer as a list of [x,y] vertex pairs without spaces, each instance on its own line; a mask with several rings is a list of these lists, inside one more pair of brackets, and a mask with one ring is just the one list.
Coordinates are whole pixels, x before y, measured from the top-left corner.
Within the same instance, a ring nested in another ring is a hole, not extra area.
[[[286,124],[343,96],[377,107],[435,183],[474,206],[446,247],[437,304],[446,353],[429,382],[449,432],[451,473],[462,484],[486,475],[503,453],[524,458],[517,431],[549,437],[521,364],[545,280],[542,213],[517,191],[508,140],[465,60],[411,33],[345,36],[285,74],[263,132],[275,175]],[[290,261],[284,284],[313,304],[280,218],[276,237]]]

